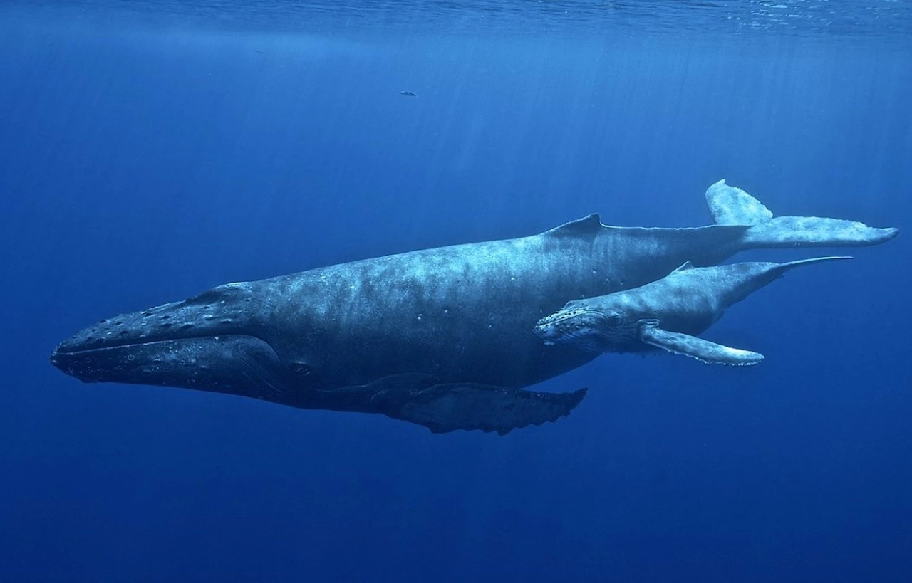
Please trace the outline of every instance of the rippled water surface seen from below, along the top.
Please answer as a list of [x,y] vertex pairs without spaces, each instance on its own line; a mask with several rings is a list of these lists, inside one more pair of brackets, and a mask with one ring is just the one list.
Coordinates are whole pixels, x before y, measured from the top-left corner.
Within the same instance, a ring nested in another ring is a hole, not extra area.
[[178,26],[285,32],[912,36],[912,3],[902,0],[7,0],[4,6],[83,19],[120,14]]

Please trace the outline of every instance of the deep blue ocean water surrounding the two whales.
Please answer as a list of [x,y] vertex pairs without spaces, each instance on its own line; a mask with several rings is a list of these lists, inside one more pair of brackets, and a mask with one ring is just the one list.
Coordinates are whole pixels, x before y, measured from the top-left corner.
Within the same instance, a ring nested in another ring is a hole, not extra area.
[[0,578],[912,580],[907,234],[707,332],[761,365],[603,355],[503,437],[47,362],[226,281],[707,224],[722,178],[908,231],[910,103],[907,2],[5,3]]

